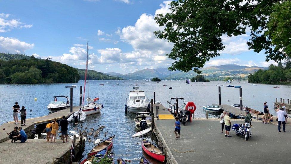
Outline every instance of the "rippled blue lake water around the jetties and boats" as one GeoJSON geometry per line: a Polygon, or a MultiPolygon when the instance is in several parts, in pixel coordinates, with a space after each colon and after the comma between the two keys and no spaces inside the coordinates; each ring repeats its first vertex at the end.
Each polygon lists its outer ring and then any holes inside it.
{"type": "MultiPolygon", "coordinates": [[[[203,111],[202,106],[218,103],[218,84],[224,85],[221,87],[222,104],[239,103],[239,88],[226,87],[226,85],[242,86],[243,105],[258,111],[263,111],[263,103],[267,101],[270,112],[275,114],[273,110],[275,98],[278,98],[278,100],[283,98],[285,103],[287,103],[288,98],[291,99],[290,85],[276,85],[280,88],[273,88],[274,85],[258,84],[257,86],[252,86],[252,84],[243,81],[240,83],[232,82],[231,84],[219,81],[204,82],[206,85],[202,84],[202,82],[192,82],[189,85],[185,85],[184,81],[162,81],[159,83],[145,81],[123,82],[125,81],[89,81],[90,97],[99,97],[104,109],[100,114],[88,116],[83,126],[96,129],[100,124],[106,125],[103,133],[100,134],[100,138],[105,139],[107,137],[103,136],[105,131],[108,131],[108,135],[115,135],[113,148],[115,158],[122,157],[123,159],[131,160],[132,163],[136,163],[140,157],[145,155],[141,148],[142,138],[131,137],[137,132],[133,121],[135,114],[124,112],[126,98],[128,98],[129,91],[131,91],[132,85],[135,83],[139,84],[140,90],[144,90],[149,99],[153,99],[153,92],[155,91],[156,101],[161,101],[166,107],[168,107],[166,101],[169,101],[172,97],[183,97],[185,101],[193,101],[196,105],[195,117],[204,118],[206,112],[203,111]],[[110,84],[106,82],[110,82],[110,84]],[[117,82],[119,85],[116,85],[117,82]],[[104,86],[99,85],[100,83],[103,83],[104,86]],[[168,86],[163,87],[164,84],[168,86]],[[170,85],[173,87],[172,90],[168,89],[170,85]]],[[[84,81],[80,81],[77,83],[77,88],[74,88],[74,106],[79,105],[79,86],[83,86],[83,83],[84,81]]],[[[16,101],[20,106],[25,106],[27,109],[27,118],[48,114],[47,105],[53,101],[52,96],[69,96],[69,88],[65,88],[67,85],[71,84],[0,85],[0,110],[2,114],[0,124],[13,120],[11,108],[16,101]],[[34,101],[35,97],[37,101],[34,101]],[[32,112],[30,112],[30,109],[33,109],[32,112]]],[[[210,117],[217,117],[217,115],[210,114],[210,117]]],[[[71,124],[70,128],[73,129],[74,126],[71,124]]],[[[90,138],[93,140],[93,136],[90,138]]],[[[146,135],[145,138],[152,141],[150,134],[146,135]]],[[[78,160],[85,158],[93,146],[92,143],[86,142],[85,151],[78,160]]],[[[146,157],[149,158],[148,156],[146,157]]],[[[157,163],[152,160],[151,162],[157,163]]]]}

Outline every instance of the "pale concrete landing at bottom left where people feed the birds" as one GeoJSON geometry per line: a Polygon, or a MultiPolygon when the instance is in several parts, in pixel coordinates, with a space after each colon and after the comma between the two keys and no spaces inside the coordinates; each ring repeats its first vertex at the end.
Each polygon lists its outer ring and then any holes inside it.
{"type": "Polygon", "coordinates": [[[28,139],[24,143],[20,141],[11,143],[11,140],[2,142],[0,144],[1,164],[53,163],[66,154],[72,145],[72,140],[66,143],[60,139],[54,143],[46,141],[46,139],[28,139]]]}

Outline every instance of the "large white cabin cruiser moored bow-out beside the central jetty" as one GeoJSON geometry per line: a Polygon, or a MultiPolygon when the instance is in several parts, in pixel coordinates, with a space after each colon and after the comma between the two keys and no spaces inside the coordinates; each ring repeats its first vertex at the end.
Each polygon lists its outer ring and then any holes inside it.
{"type": "Polygon", "coordinates": [[[144,91],[129,91],[129,99],[126,99],[126,106],[131,113],[144,112],[148,108],[148,98],[144,91]]]}

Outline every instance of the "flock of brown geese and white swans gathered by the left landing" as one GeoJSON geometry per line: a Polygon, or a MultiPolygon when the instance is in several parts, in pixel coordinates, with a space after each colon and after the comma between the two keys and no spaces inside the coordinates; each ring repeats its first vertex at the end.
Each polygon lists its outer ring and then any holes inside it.
{"type": "MultiPolygon", "coordinates": [[[[78,124],[75,124],[75,125],[78,125],[78,124]]],[[[85,141],[88,141],[89,143],[94,143],[94,144],[98,144],[100,143],[101,141],[104,140],[104,138],[98,138],[95,140],[96,137],[100,136],[100,134],[103,132],[103,128],[106,128],[106,126],[104,125],[98,125],[98,129],[94,129],[94,128],[90,128],[89,131],[88,131],[88,127],[84,126],[84,130],[82,131],[82,124],[81,124],[81,130],[78,131],[79,129],[79,126],[78,127],[75,127],[74,130],[70,130],[69,132],[72,133],[72,136],[69,136],[70,139],[73,139],[74,138],[74,135],[76,136],[76,138],[80,139],[80,136],[82,134],[82,138],[85,140],[85,141]],[[77,131],[77,132],[76,132],[77,131]],[[92,136],[93,137],[93,140],[89,137],[89,136],[92,136]]],[[[61,133],[61,131],[59,131],[59,133],[61,133]]],[[[106,137],[108,134],[108,131],[104,132],[103,133],[103,136],[106,137]]],[[[46,136],[47,134],[46,133],[41,133],[42,136],[46,136]]],[[[61,137],[61,135],[59,136],[61,137]]],[[[45,137],[44,137],[45,138],[45,137]]],[[[38,134],[35,134],[34,135],[34,139],[38,139],[38,134]]]]}

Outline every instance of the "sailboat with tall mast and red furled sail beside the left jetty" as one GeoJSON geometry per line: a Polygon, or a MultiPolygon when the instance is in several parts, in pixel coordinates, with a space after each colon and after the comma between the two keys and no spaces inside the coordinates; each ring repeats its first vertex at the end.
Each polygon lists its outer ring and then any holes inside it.
{"type": "Polygon", "coordinates": [[[86,115],[96,114],[101,111],[103,105],[100,103],[96,103],[99,98],[91,99],[89,98],[89,76],[88,76],[88,42],[87,42],[87,61],[86,61],[86,70],[85,70],[85,82],[84,82],[84,92],[83,92],[83,102],[81,106],[81,110],[86,113],[86,115]],[[84,105],[84,98],[85,98],[85,91],[86,91],[86,80],[87,81],[87,89],[88,89],[88,97],[87,97],[87,104],[84,105]]]}

